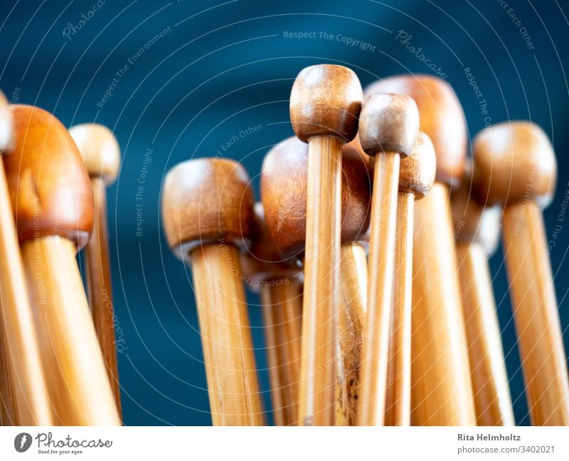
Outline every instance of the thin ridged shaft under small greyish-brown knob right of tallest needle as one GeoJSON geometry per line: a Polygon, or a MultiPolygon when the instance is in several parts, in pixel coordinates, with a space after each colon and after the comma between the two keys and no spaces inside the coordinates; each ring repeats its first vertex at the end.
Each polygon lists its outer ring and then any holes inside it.
{"type": "Polygon", "coordinates": [[[358,425],[382,425],[393,292],[400,156],[376,156],[371,198],[368,309],[360,369],[358,425]]]}

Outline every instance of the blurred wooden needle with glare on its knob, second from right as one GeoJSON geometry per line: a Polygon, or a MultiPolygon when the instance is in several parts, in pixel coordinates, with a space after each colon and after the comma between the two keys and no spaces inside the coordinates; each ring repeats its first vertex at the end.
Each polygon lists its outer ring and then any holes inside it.
{"type": "Polygon", "coordinates": [[[496,315],[488,258],[500,234],[499,207],[483,207],[471,196],[472,168],[451,192],[461,300],[472,369],[478,425],[515,425],[506,359],[496,315]]]}

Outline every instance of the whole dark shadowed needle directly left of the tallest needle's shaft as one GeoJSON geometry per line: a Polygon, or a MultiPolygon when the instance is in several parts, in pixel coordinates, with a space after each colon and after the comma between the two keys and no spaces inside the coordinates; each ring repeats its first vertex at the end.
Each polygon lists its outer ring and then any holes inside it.
{"type": "Polygon", "coordinates": [[[270,238],[262,203],[241,266],[246,286],[260,294],[275,425],[296,425],[302,327],[302,273],[282,261],[270,238]]]}

